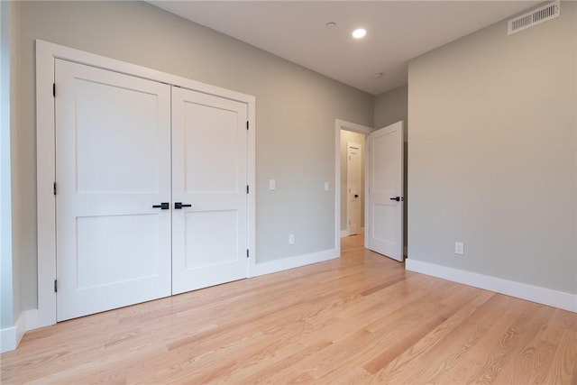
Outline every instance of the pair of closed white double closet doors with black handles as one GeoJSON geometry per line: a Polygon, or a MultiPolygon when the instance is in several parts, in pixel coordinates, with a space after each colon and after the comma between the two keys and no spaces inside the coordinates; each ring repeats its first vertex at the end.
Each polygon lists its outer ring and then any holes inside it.
{"type": "Polygon", "coordinates": [[[57,319],[247,276],[247,105],[56,60],[57,319]]]}

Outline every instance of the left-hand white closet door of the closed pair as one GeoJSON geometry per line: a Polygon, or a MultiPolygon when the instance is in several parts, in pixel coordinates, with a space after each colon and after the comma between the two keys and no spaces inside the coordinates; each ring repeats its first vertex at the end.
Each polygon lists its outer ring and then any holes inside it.
{"type": "Polygon", "coordinates": [[[170,295],[170,88],[56,60],[57,317],[170,295]]]}

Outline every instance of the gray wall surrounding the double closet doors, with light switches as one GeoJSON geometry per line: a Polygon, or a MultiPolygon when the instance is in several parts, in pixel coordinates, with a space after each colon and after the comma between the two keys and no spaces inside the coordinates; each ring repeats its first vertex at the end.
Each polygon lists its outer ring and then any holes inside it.
{"type": "MultiPolygon", "coordinates": [[[[334,247],[334,119],[372,124],[372,96],[141,2],[19,2],[22,89],[14,254],[36,307],[34,43],[51,41],[256,96],[258,261],[334,247]],[[277,189],[268,190],[268,179],[277,189]],[[329,181],[331,192],[324,191],[329,181]],[[297,243],[289,245],[288,235],[297,243]]],[[[13,131],[14,131],[13,130],[13,131]]],[[[14,133],[14,132],[13,132],[14,133]]]]}

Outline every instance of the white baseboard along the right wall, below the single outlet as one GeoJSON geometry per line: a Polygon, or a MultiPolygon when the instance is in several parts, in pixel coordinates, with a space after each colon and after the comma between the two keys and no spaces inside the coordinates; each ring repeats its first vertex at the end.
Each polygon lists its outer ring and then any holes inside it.
{"type": "Polygon", "coordinates": [[[487,289],[507,296],[527,299],[538,304],[558,307],[577,313],[577,294],[541,288],[514,280],[503,280],[489,275],[453,269],[434,263],[415,261],[410,258],[406,261],[405,266],[409,271],[415,271],[444,280],[451,280],[475,288],[487,289]]]}

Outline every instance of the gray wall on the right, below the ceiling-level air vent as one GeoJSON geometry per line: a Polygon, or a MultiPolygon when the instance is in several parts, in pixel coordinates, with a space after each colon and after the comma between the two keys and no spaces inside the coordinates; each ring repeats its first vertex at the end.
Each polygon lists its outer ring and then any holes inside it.
{"type": "Polygon", "coordinates": [[[577,293],[576,8],[409,63],[411,260],[577,293]]]}

